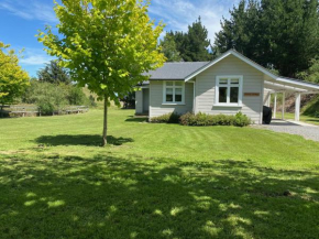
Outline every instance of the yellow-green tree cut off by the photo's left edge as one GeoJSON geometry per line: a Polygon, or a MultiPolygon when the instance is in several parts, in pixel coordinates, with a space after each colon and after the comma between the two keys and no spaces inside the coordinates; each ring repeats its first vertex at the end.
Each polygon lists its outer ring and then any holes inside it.
{"type": "Polygon", "coordinates": [[[10,45],[0,42],[0,104],[12,104],[26,86],[29,75],[19,65],[19,58],[10,45]],[[7,52],[6,52],[7,51],[7,52]]]}

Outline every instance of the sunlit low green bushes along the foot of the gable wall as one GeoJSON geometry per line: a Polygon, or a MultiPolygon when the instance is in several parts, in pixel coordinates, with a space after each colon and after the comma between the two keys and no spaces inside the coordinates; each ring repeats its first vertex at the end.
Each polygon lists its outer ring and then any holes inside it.
{"type": "Polygon", "coordinates": [[[183,126],[235,126],[245,127],[251,124],[251,120],[243,115],[238,112],[235,116],[226,115],[208,115],[199,112],[194,115],[191,112],[185,113],[179,118],[179,123],[183,126]]]}

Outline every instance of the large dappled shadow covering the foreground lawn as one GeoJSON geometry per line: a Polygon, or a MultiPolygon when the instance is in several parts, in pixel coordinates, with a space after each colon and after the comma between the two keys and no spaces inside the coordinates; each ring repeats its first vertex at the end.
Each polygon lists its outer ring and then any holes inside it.
{"type": "Polygon", "coordinates": [[[22,161],[0,169],[4,238],[318,236],[319,177],[310,172],[134,155],[22,161]]]}

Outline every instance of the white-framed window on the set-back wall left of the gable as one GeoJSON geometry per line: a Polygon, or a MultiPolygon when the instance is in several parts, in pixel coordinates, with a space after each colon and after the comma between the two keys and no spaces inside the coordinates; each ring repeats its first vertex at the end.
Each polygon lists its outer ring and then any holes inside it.
{"type": "Polygon", "coordinates": [[[164,82],[164,102],[163,104],[184,104],[185,83],[164,82]]]}

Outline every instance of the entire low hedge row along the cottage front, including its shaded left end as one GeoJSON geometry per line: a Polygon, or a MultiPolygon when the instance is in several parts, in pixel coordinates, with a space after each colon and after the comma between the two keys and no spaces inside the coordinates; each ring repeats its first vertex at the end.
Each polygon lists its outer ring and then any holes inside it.
{"type": "Polygon", "coordinates": [[[234,127],[246,127],[252,123],[251,119],[243,115],[242,112],[238,112],[235,116],[227,116],[227,115],[208,115],[199,112],[194,115],[191,112],[187,112],[183,116],[177,113],[166,113],[160,117],[153,117],[151,119],[152,123],[180,123],[182,126],[197,126],[197,127],[206,127],[206,126],[234,126],[234,127]]]}

